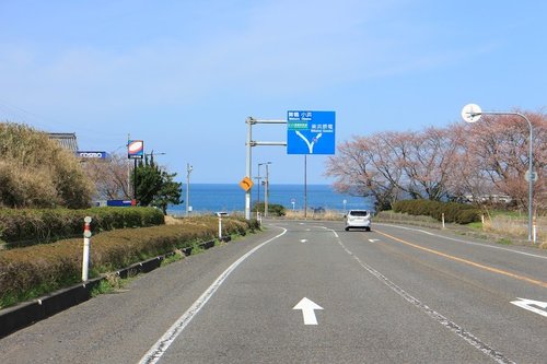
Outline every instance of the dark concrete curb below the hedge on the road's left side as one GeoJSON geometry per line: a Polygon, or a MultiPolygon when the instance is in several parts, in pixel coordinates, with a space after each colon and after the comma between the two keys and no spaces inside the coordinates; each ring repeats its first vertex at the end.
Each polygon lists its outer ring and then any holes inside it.
{"type": "MultiPolygon", "coordinates": [[[[231,237],[226,236],[221,240],[230,242],[231,237]]],[[[214,246],[214,240],[205,242],[199,244],[199,247],[202,249],[209,249],[214,246]]],[[[184,255],[189,256],[191,254],[191,247],[183,249],[183,253],[184,255]]],[[[131,265],[116,271],[116,274],[125,279],[129,275],[148,273],[156,268],[160,268],[162,261],[172,255],[174,255],[174,253],[131,265]]],[[[90,300],[93,289],[105,279],[106,274],[89,280],[85,283],[79,283],[70,287],[53,292],[46,296],[35,298],[31,302],[25,302],[0,310],[0,339],[90,300]]]]}

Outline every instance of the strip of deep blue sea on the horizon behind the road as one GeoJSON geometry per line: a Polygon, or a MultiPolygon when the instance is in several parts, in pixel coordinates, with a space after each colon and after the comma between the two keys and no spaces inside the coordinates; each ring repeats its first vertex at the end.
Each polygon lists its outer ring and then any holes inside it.
{"type": "MultiPolygon", "coordinates": [[[[307,208],[330,211],[347,211],[349,209],[372,209],[368,198],[339,193],[330,185],[307,185],[307,208]]],[[[186,199],[186,186],[183,189],[183,199],[186,199]]],[[[252,203],[264,202],[264,187],[253,187],[252,203]]],[[[209,212],[244,212],[245,191],[235,184],[190,184],[189,207],[195,214],[209,212]]],[[[304,209],[304,185],[270,185],[268,203],[282,204],[287,210],[304,209]]],[[[170,206],[167,213],[183,215],[186,213],[186,202],[170,206]]]]}

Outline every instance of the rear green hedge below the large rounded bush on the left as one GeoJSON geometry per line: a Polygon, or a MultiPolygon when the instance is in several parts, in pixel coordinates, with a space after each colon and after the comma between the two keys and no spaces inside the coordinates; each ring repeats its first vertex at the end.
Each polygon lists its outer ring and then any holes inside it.
{"type": "Polygon", "coordinates": [[[0,209],[0,242],[16,247],[74,237],[83,233],[85,216],[96,232],[164,224],[154,208],[0,209]]]}

